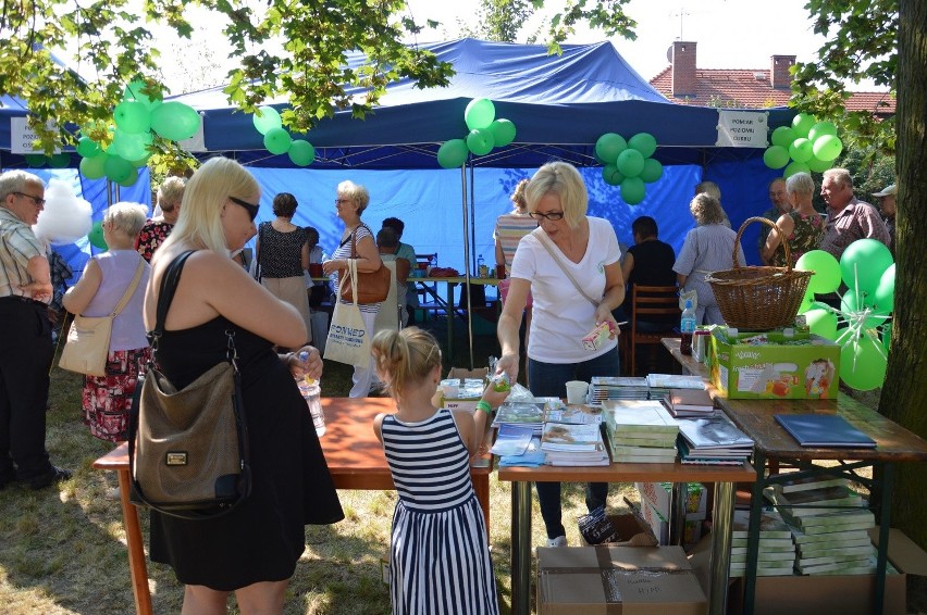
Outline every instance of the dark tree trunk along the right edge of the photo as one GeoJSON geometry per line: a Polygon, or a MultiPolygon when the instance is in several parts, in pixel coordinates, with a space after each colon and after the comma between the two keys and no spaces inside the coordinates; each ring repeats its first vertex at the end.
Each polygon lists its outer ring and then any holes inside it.
{"type": "MultiPolygon", "coordinates": [[[[900,0],[894,323],[879,412],[927,438],[927,2],[900,0]]],[[[927,549],[927,464],[897,466],[892,525],[927,549]]]]}

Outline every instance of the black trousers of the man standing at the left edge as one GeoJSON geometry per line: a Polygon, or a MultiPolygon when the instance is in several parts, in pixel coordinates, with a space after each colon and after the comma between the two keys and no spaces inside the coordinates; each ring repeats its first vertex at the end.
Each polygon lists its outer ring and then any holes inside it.
{"type": "Polygon", "coordinates": [[[29,479],[51,469],[45,424],[53,355],[45,304],[0,298],[0,476],[29,479]]]}

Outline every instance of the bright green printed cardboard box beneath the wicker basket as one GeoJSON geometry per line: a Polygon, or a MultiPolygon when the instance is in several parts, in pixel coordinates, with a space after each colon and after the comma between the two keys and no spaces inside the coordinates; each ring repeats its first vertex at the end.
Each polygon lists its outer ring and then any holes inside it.
{"type": "Polygon", "coordinates": [[[712,384],[730,399],[837,399],[840,347],[816,335],[739,332],[710,336],[712,384]],[[765,336],[764,344],[747,340],[765,336]]]}

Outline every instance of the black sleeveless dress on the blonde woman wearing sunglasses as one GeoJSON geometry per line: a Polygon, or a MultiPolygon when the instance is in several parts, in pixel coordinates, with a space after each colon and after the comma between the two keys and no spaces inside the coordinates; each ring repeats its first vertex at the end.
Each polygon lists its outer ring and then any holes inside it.
{"type": "Polygon", "coordinates": [[[157,354],[164,375],[187,386],[225,357],[235,331],[247,414],[254,487],[232,513],[183,520],[151,511],[152,562],[168,564],[184,585],[232,591],[293,576],[307,524],[344,518],[306,402],[272,344],[218,317],[164,331],[157,354]]]}

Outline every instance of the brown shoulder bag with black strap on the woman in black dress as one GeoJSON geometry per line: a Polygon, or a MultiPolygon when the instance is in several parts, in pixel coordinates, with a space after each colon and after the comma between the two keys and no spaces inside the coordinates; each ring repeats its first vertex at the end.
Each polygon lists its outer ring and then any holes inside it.
{"type": "MultiPolygon", "coordinates": [[[[152,354],[168,309],[193,251],[168,266],[158,293],[152,354]]],[[[209,519],[227,514],[251,492],[248,431],[242,403],[235,332],[226,330],[227,361],[177,390],[149,361],[139,376],[128,423],[131,500],[165,515],[209,519]]]]}

